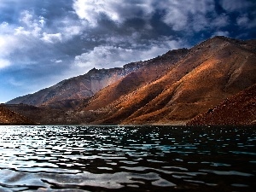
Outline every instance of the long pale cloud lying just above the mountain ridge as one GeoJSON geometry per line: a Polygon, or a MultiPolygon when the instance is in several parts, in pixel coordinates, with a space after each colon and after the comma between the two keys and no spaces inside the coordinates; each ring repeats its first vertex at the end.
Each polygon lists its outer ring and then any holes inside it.
{"type": "Polygon", "coordinates": [[[74,64],[87,69],[92,67],[121,67],[131,61],[152,59],[157,55],[166,53],[170,49],[180,48],[181,44],[181,41],[160,38],[159,40],[152,41],[150,45],[144,46],[144,49],[138,49],[137,46],[125,49],[117,46],[102,45],[82,55],[77,55],[74,64]]]}

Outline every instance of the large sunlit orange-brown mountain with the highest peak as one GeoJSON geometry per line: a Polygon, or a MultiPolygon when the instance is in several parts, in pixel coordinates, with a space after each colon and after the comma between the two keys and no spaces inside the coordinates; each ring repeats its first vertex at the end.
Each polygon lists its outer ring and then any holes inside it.
{"type": "MultiPolygon", "coordinates": [[[[159,79],[101,107],[87,108],[100,124],[170,124],[187,121],[256,83],[255,41],[211,38],[194,48],[159,79]]],[[[154,73],[154,71],[151,71],[154,73]]],[[[115,84],[114,86],[118,86],[115,84]]],[[[130,84],[126,84],[130,87],[130,84]]],[[[132,86],[132,85],[131,85],[132,86]]],[[[115,88],[112,88],[113,91],[115,88]]],[[[132,89],[131,89],[132,90],[132,89]]],[[[113,95],[104,91],[105,100],[113,95]]],[[[98,95],[99,97],[99,95],[98,95]]]]}

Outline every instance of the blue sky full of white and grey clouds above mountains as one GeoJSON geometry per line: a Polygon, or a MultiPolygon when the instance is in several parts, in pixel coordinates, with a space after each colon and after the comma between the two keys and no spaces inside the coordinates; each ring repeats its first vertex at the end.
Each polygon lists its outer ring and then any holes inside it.
{"type": "Polygon", "coordinates": [[[216,35],[256,38],[256,1],[0,0],[0,102],[216,35]]]}

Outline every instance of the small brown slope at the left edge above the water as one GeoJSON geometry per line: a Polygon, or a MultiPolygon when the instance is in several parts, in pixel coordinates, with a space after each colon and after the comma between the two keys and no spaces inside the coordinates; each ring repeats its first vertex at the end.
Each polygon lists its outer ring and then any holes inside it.
{"type": "Polygon", "coordinates": [[[0,125],[35,125],[35,123],[0,105],[0,125]]]}

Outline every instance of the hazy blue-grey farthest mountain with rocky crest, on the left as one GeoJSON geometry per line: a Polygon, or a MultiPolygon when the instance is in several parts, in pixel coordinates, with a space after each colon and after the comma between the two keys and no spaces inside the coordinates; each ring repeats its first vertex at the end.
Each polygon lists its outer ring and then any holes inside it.
{"type": "Polygon", "coordinates": [[[143,66],[142,61],[126,64],[124,67],[111,69],[91,69],[88,73],[66,79],[34,94],[17,97],[6,104],[27,104],[33,106],[48,105],[63,100],[78,100],[93,96],[97,91],[113,84],[143,66]]]}

